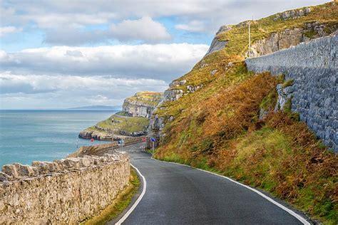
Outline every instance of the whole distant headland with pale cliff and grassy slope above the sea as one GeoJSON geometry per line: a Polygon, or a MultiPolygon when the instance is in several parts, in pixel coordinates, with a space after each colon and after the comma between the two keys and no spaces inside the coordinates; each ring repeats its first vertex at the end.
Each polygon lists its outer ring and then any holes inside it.
{"type": "Polygon", "coordinates": [[[162,98],[162,93],[144,91],[126,98],[123,111],[82,130],[78,137],[84,139],[111,140],[146,135],[151,113],[162,98]]]}

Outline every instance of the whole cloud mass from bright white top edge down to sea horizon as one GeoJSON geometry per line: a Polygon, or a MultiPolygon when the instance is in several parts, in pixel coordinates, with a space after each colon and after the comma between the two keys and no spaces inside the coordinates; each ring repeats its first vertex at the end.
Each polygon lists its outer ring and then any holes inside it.
{"type": "Polygon", "coordinates": [[[121,105],[141,90],[164,91],[207,50],[180,43],[0,51],[0,107],[121,105]]]}

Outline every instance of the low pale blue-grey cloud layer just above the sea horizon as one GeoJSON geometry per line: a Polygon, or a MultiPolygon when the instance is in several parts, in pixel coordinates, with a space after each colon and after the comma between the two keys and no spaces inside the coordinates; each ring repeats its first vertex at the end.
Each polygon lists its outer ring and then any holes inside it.
{"type": "Polygon", "coordinates": [[[70,108],[121,105],[141,90],[163,91],[164,80],[111,76],[22,75],[0,73],[1,108],[70,108]],[[33,105],[31,105],[33,104],[33,105]]]}

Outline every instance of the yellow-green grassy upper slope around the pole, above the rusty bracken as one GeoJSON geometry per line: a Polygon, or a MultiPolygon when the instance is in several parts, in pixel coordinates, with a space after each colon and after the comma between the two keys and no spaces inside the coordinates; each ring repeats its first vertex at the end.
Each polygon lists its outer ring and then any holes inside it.
{"type": "MultiPolygon", "coordinates": [[[[274,20],[277,16],[280,16],[280,14],[275,14],[251,22],[250,33],[252,43],[267,38],[271,33],[285,31],[287,28],[305,28],[305,23],[313,23],[315,21],[327,25],[325,28],[327,33],[333,33],[337,30],[337,4],[332,5],[332,3],[327,3],[309,8],[311,12],[307,16],[301,16],[297,19],[274,20]]],[[[220,33],[217,39],[228,41],[226,48],[206,56],[195,65],[193,70],[176,80],[187,80],[185,85],[193,86],[210,83],[212,80],[217,79],[219,75],[227,73],[229,62],[243,61],[243,57],[249,46],[247,42],[247,22],[244,21],[237,25],[232,25],[230,26],[230,31],[220,33]],[[210,72],[214,69],[217,69],[217,73],[211,75],[210,72]]],[[[185,86],[182,89],[184,90],[185,86]]]]}

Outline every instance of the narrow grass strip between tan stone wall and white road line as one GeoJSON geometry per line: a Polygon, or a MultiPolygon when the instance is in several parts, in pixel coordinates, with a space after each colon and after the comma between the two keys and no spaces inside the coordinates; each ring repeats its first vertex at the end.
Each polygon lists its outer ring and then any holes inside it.
{"type": "Polygon", "coordinates": [[[106,224],[108,221],[116,218],[119,214],[121,214],[124,209],[128,207],[133,199],[133,196],[136,192],[138,192],[138,188],[140,187],[140,179],[135,169],[130,167],[130,174],[130,184],[124,192],[121,192],[121,194],[118,195],[113,204],[106,207],[106,209],[104,209],[101,214],[98,214],[91,219],[83,221],[81,224],[106,224]]]}

